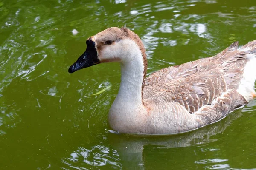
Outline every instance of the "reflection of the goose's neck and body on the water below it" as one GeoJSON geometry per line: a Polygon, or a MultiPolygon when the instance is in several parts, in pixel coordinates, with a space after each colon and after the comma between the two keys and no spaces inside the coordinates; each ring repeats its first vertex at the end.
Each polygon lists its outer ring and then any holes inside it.
{"type": "MultiPolygon", "coordinates": [[[[241,110],[236,110],[223,121],[189,133],[171,136],[138,137],[108,133],[108,141],[111,143],[113,149],[117,150],[119,153],[123,169],[154,169],[152,167],[146,168],[148,164],[146,164],[143,156],[145,148],[157,147],[162,150],[163,153],[168,154],[166,149],[202,146],[210,142],[215,142],[218,139],[214,136],[218,133],[223,133],[231,122],[241,115],[241,110]]],[[[215,144],[212,145],[214,146],[215,144]]],[[[161,162],[164,163],[165,161],[161,160],[161,162]]]]}

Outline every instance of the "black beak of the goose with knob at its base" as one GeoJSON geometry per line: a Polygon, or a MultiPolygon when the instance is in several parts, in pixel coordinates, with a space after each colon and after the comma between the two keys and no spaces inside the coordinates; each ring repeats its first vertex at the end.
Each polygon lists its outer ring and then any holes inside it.
{"type": "Polygon", "coordinates": [[[95,48],[95,42],[91,40],[91,38],[89,38],[86,41],[86,44],[87,44],[87,48],[84,54],[82,54],[77,59],[77,61],[70,66],[70,68],[68,69],[69,73],[74,73],[75,71],[80,70],[82,68],[87,68],[92,65],[99,64],[99,59],[97,57],[98,54],[95,48]]]}

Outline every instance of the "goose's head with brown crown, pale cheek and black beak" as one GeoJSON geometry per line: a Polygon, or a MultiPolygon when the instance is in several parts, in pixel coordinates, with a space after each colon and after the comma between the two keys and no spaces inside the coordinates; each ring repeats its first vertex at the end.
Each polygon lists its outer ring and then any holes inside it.
{"type": "Polygon", "coordinates": [[[88,38],[86,40],[86,51],[70,66],[69,72],[73,73],[82,68],[87,68],[104,62],[132,62],[134,57],[138,57],[135,48],[140,51],[143,58],[144,75],[147,70],[147,60],[143,42],[139,36],[122,27],[111,27],[88,38]]]}

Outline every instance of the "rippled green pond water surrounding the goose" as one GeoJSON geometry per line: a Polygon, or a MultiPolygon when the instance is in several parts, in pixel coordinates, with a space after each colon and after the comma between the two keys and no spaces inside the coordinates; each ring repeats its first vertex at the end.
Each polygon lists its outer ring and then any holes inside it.
{"type": "Polygon", "coordinates": [[[149,74],[256,39],[256,1],[1,0],[0,169],[256,168],[255,100],[182,135],[111,131],[119,65],[67,70],[88,37],[124,25],[143,40],[149,74]]]}

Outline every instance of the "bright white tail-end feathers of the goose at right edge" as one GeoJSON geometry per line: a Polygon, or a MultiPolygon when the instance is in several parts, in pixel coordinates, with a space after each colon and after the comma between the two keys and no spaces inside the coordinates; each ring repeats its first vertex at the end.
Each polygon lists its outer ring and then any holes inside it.
{"type": "MultiPolygon", "coordinates": [[[[239,48],[240,50],[240,48],[239,48]]],[[[249,48],[240,51],[248,51],[249,48]]],[[[238,93],[244,96],[247,102],[250,102],[256,95],[254,90],[256,80],[256,54],[247,54],[247,63],[244,67],[244,74],[238,87],[238,93]]]]}

